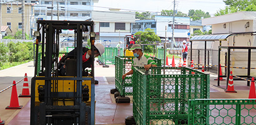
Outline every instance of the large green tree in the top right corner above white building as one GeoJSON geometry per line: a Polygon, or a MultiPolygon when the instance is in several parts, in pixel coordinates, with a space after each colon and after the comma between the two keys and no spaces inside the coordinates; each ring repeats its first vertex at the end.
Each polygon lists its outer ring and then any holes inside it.
{"type": "Polygon", "coordinates": [[[256,0],[224,0],[225,9],[220,9],[214,16],[231,14],[239,11],[255,11],[256,0]]]}

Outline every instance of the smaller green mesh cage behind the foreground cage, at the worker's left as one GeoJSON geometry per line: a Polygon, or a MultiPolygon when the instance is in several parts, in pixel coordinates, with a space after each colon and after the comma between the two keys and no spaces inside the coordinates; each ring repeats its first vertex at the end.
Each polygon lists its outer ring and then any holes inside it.
{"type": "MultiPolygon", "coordinates": [[[[122,75],[129,72],[132,67],[132,59],[134,57],[116,56],[116,74],[115,82],[116,89],[120,92],[121,96],[132,96],[132,75],[127,75],[124,80],[124,86],[122,86],[122,75]]],[[[157,66],[161,66],[161,60],[159,58],[151,57],[157,66]]]]}

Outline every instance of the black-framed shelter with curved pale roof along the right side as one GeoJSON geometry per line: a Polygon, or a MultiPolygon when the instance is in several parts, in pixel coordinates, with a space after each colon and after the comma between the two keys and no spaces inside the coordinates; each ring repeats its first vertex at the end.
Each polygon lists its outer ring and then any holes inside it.
{"type": "MultiPolygon", "coordinates": [[[[218,73],[218,82],[217,82],[217,85],[220,86],[220,77],[227,77],[227,79],[229,78],[229,72],[230,72],[230,49],[248,49],[248,58],[250,58],[251,56],[251,49],[255,49],[254,47],[251,47],[252,46],[252,43],[250,43],[249,46],[244,46],[244,47],[237,47],[235,46],[235,42],[233,41],[233,44],[232,45],[229,45],[227,44],[227,47],[222,47],[222,42],[224,41],[227,41],[227,39],[229,37],[232,37],[232,36],[237,36],[237,35],[256,35],[255,34],[256,32],[237,32],[237,33],[232,33],[232,34],[213,34],[213,35],[197,35],[197,36],[194,36],[190,39],[190,62],[193,60],[193,51],[192,50],[197,50],[197,49],[194,49],[193,47],[193,43],[194,42],[202,42],[202,44],[204,44],[204,49],[201,49],[204,51],[204,62],[200,64],[200,62],[198,61],[198,65],[205,65],[207,66],[207,70],[209,71],[209,66],[215,66],[217,67],[217,73],[218,73]],[[207,43],[208,42],[217,42],[219,41],[219,47],[218,47],[218,50],[219,51],[218,53],[215,53],[215,54],[218,54],[218,55],[215,55],[213,56],[212,60],[217,60],[217,64],[215,65],[210,65],[210,58],[209,58],[209,52],[208,52],[208,55],[207,55],[207,43]],[[225,53],[225,70],[227,70],[227,72],[225,72],[225,74],[227,75],[220,75],[220,51],[222,49],[227,49],[227,53],[225,53]],[[218,58],[216,58],[218,57],[218,58]]],[[[202,46],[201,44],[201,46],[202,46]]],[[[198,56],[198,60],[200,60],[199,56],[198,56]]],[[[248,69],[250,68],[250,62],[251,60],[248,59],[248,69]]],[[[250,79],[250,70],[247,70],[247,75],[245,75],[245,77],[249,78],[250,79]]],[[[241,78],[236,78],[234,80],[242,80],[241,78]]],[[[228,83],[229,80],[227,80],[227,83],[228,83]]],[[[247,84],[248,85],[248,84],[247,84]]]]}

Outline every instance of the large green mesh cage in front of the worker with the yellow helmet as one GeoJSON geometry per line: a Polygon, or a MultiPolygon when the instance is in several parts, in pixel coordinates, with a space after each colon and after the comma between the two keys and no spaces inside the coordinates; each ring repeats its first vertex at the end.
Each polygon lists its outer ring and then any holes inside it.
{"type": "Polygon", "coordinates": [[[133,114],[139,125],[187,124],[189,100],[210,95],[210,75],[191,68],[152,67],[146,73],[135,67],[132,81],[133,114]]]}

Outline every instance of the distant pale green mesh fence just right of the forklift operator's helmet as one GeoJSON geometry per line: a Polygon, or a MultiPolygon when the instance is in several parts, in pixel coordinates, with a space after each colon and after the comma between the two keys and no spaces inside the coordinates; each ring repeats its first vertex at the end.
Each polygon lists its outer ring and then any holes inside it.
{"type": "Polygon", "coordinates": [[[115,56],[123,55],[123,49],[117,49],[116,47],[105,47],[105,52],[102,56],[99,56],[99,60],[105,64],[115,64],[115,56]]]}

